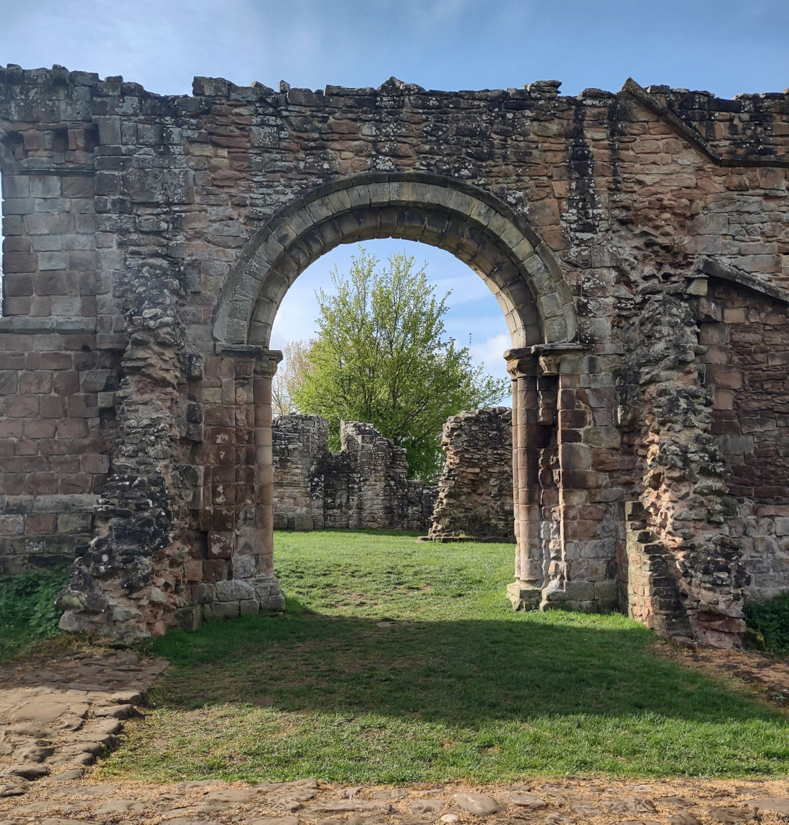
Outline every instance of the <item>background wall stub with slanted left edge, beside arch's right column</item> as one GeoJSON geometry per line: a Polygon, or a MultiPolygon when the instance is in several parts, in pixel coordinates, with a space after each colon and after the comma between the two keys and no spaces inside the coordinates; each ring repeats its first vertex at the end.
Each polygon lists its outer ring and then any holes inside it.
{"type": "Polygon", "coordinates": [[[484,407],[447,419],[446,453],[429,534],[513,540],[513,411],[484,407]]]}

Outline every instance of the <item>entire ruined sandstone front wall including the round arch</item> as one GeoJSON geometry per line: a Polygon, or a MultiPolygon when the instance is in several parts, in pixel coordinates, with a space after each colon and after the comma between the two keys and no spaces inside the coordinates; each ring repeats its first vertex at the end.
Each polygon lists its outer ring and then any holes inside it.
{"type": "Polygon", "coordinates": [[[3,566],[78,549],[63,626],[119,643],[280,610],[272,320],[408,238],[507,319],[513,605],[736,643],[789,589],[789,97],[559,85],[0,68],[3,566]]]}

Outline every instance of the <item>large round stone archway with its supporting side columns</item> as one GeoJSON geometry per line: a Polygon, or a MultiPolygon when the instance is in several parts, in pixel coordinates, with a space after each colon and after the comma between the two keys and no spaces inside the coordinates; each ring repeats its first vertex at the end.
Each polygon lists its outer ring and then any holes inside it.
{"type": "MultiPolygon", "coordinates": [[[[302,271],[340,243],[404,238],[446,249],[489,286],[508,323],[513,380],[513,493],[517,555],[513,606],[561,602],[587,610],[616,604],[616,582],[569,581],[565,506],[583,497],[573,476],[583,446],[573,430],[583,347],[572,295],[552,252],[500,200],[473,186],[419,173],[370,173],[320,186],[276,214],[243,250],[215,316],[219,347],[257,357],[254,526],[240,546],[273,552],[271,380],[267,349],[276,310],[302,271]],[[565,441],[567,443],[565,443],[565,441]],[[551,466],[564,477],[556,479],[551,466]]],[[[580,464],[583,467],[583,456],[580,464]]],[[[581,553],[583,555],[583,553],[581,553]]],[[[605,567],[605,565],[603,565],[605,567]]]]}

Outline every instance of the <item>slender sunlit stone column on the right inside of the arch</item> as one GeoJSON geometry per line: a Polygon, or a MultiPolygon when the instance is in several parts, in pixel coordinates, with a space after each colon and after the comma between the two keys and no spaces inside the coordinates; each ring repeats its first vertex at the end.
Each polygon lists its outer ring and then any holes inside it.
{"type": "Polygon", "coordinates": [[[516,610],[540,605],[543,551],[540,512],[540,450],[537,423],[537,360],[531,347],[504,353],[513,380],[513,509],[515,514],[515,581],[507,588],[516,610]]]}

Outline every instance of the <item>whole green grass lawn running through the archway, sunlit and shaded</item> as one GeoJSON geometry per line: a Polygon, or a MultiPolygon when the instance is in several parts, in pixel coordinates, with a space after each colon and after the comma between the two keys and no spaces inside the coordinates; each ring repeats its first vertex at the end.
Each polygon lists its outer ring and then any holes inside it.
{"type": "Polygon", "coordinates": [[[621,615],[514,613],[511,544],[276,534],[286,615],[172,632],[102,766],[140,780],[786,775],[787,716],[621,615]]]}

